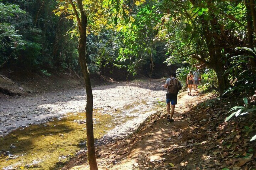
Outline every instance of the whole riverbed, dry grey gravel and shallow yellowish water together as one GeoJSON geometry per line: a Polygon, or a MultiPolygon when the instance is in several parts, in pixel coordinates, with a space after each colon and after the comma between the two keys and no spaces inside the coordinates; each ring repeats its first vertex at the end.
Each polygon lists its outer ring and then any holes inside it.
{"type": "MultiPolygon", "coordinates": [[[[94,87],[96,143],[133,132],[163,104],[164,82],[148,79],[94,87]]],[[[85,100],[81,88],[2,98],[0,168],[54,168],[84,148],[85,100]]]]}

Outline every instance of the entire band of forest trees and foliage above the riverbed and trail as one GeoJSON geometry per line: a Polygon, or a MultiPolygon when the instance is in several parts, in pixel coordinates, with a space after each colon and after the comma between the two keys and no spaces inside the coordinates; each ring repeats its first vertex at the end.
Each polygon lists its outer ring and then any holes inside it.
{"type": "MultiPolygon", "coordinates": [[[[91,74],[163,65],[196,68],[203,88],[250,93],[255,79],[255,5],[237,1],[83,1],[91,74]],[[239,86],[237,86],[239,85],[239,86]],[[231,88],[231,90],[230,90],[231,88]]],[[[2,68],[79,72],[77,21],[69,1],[1,1],[2,68]]],[[[228,92],[227,92],[228,91],[228,92]]],[[[226,94],[225,93],[225,94],[226,94]]]]}

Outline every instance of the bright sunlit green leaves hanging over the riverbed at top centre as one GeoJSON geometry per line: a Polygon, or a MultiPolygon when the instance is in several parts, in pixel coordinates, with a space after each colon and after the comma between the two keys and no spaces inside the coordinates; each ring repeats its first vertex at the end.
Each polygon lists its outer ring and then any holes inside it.
{"type": "Polygon", "coordinates": [[[117,61],[127,65],[127,71],[133,75],[136,74],[139,63],[149,58],[151,53],[155,54],[153,38],[157,34],[156,26],[162,17],[161,13],[155,13],[155,9],[155,5],[141,5],[129,23],[126,24],[125,20],[123,25],[117,28],[123,38],[123,47],[120,48],[117,61]]]}

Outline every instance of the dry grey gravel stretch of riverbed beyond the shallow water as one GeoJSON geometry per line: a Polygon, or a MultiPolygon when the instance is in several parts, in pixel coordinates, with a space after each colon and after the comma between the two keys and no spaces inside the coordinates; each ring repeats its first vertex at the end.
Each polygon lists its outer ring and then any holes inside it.
{"type": "MultiPolygon", "coordinates": [[[[94,110],[100,109],[107,114],[120,112],[126,116],[139,116],[139,110],[145,113],[152,110],[158,100],[164,100],[164,81],[148,79],[94,87],[94,110]]],[[[85,99],[84,88],[26,97],[2,97],[0,136],[21,126],[47,122],[53,117],[61,119],[61,116],[69,112],[83,112],[85,99]]]]}

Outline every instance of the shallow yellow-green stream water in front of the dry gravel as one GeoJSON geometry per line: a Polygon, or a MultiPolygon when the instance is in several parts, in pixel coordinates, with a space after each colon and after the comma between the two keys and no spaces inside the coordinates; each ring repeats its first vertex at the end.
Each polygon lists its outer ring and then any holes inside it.
{"type": "MultiPolygon", "coordinates": [[[[146,101],[126,105],[123,110],[94,110],[94,138],[101,139],[117,125],[136,127],[160,106],[146,101]],[[144,116],[143,116],[144,115],[144,116]],[[134,121],[133,121],[134,120],[134,121]],[[138,121],[139,120],[139,121],[138,121]],[[130,121],[130,122],[129,122],[130,121]]],[[[68,113],[49,122],[18,128],[0,138],[0,169],[59,169],[77,151],[86,147],[85,113],[68,113]]],[[[124,127],[120,134],[131,130],[124,127]]],[[[135,129],[132,129],[135,130],[135,129]]],[[[113,133],[113,132],[112,132],[113,133]]]]}

